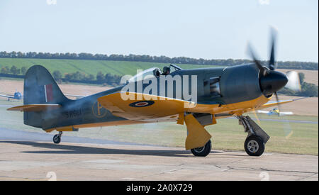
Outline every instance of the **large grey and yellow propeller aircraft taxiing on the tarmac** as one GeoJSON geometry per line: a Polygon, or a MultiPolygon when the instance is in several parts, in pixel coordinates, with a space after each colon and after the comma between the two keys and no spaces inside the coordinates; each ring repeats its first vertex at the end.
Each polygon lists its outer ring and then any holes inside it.
{"type": "Polygon", "coordinates": [[[59,133],[54,136],[54,143],[60,143],[64,131],[79,128],[174,121],[186,125],[185,148],[195,156],[206,156],[211,152],[211,135],[205,127],[216,124],[219,118],[235,116],[247,133],[245,151],[248,155],[260,156],[269,135],[244,114],[294,100],[279,101],[277,95],[289,77],[276,71],[274,33],[268,65],[257,60],[252,49],[250,55],[252,63],[233,67],[181,69],[170,65],[164,67],[163,72],[158,68],[147,69],[138,74],[142,79],[130,79],[120,87],[77,100],[67,99],[47,69],[36,65],[26,72],[23,106],[8,110],[23,111],[27,126],[42,128],[46,132],[57,130],[59,133]],[[148,84],[151,80],[157,82],[155,87],[160,89],[161,79],[169,76],[183,80],[182,84],[177,84],[177,80],[164,82],[164,87],[172,87],[171,95],[167,89],[164,93],[150,90],[148,84]],[[135,90],[123,90],[130,84],[135,90]],[[186,98],[189,86],[197,89],[196,101],[186,98]],[[123,95],[133,99],[123,99],[123,95]],[[276,101],[270,101],[272,96],[276,101]]]}

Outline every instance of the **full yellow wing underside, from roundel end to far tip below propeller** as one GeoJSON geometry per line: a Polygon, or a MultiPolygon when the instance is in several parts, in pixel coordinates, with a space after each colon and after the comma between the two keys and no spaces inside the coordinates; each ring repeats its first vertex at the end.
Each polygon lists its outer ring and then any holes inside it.
{"type": "MultiPolygon", "coordinates": [[[[114,94],[102,96],[98,101],[115,116],[120,116],[129,120],[147,120],[172,116],[184,112],[211,114],[226,113],[239,116],[242,115],[242,113],[253,110],[276,106],[276,102],[267,104],[270,99],[271,98],[266,98],[265,96],[260,96],[257,99],[235,104],[194,104],[194,102],[191,101],[164,98],[150,94],[116,92],[114,94]],[[130,99],[123,99],[123,94],[126,95],[125,98],[130,96],[130,99]],[[132,106],[132,104],[138,104],[138,102],[142,101],[152,101],[153,104],[140,107],[132,106]]],[[[291,101],[293,100],[281,101],[279,104],[286,104],[291,101]]]]}

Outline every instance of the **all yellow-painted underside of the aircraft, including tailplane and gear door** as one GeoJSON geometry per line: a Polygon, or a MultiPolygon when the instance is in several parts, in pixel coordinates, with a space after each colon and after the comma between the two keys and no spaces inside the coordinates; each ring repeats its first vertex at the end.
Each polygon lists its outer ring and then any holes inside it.
{"type": "MultiPolygon", "coordinates": [[[[250,101],[243,101],[235,104],[194,104],[190,101],[183,101],[179,99],[170,99],[160,96],[153,96],[150,94],[138,94],[126,92],[126,95],[130,96],[133,100],[123,100],[121,92],[101,96],[99,103],[111,111],[114,116],[126,118],[124,121],[112,121],[105,123],[88,123],[74,126],[65,126],[60,128],[52,128],[46,130],[51,132],[57,131],[73,131],[77,128],[92,128],[100,126],[120,126],[130,125],[137,123],[149,123],[151,119],[171,117],[177,121],[177,124],[186,124],[188,135],[186,138],[185,148],[189,150],[191,148],[201,147],[210,140],[211,135],[202,126],[196,118],[191,114],[186,113],[211,113],[213,118],[209,125],[216,124],[216,118],[225,118],[229,116],[241,116],[243,113],[250,111],[269,108],[278,104],[286,104],[293,100],[267,103],[272,97],[259,96],[257,99],[250,101]],[[152,106],[145,107],[133,107],[130,104],[136,101],[154,101],[152,106]],[[216,114],[225,113],[229,116],[215,117],[216,114]]],[[[57,105],[26,105],[12,109],[19,111],[39,111],[39,109],[58,108],[57,105]]]]}

